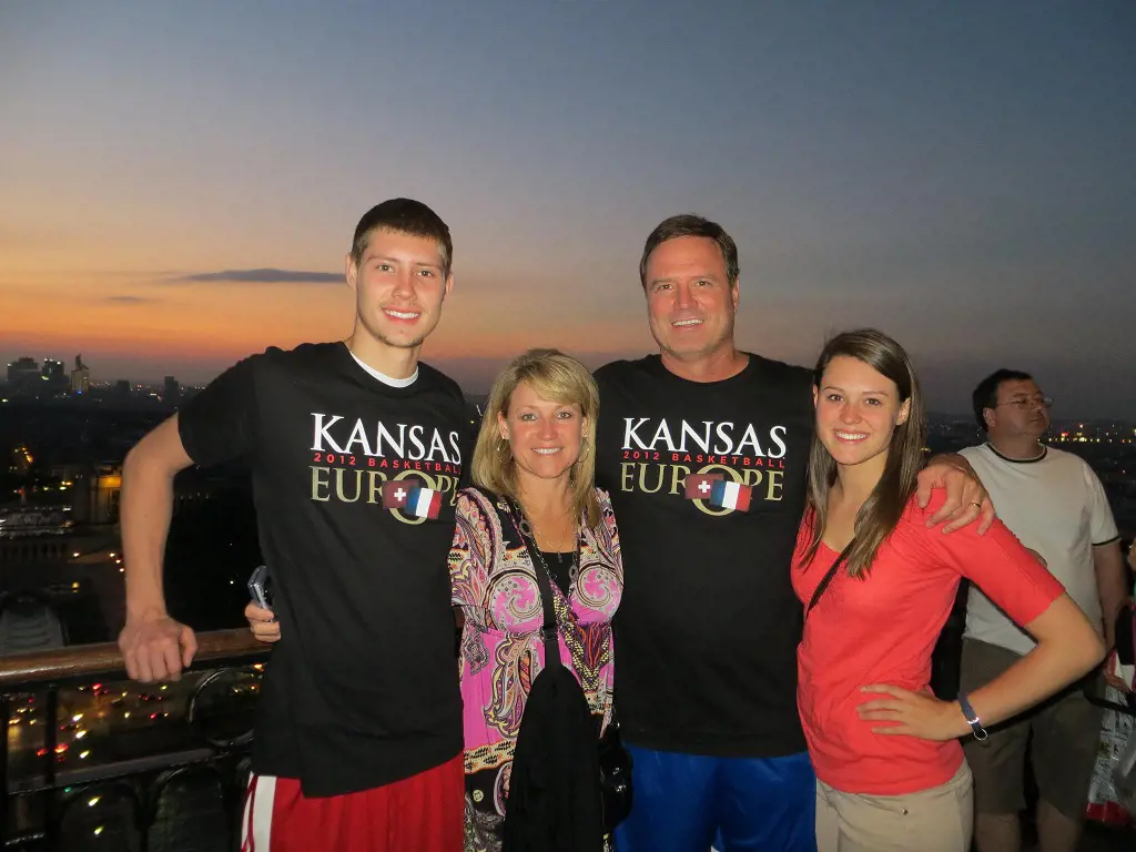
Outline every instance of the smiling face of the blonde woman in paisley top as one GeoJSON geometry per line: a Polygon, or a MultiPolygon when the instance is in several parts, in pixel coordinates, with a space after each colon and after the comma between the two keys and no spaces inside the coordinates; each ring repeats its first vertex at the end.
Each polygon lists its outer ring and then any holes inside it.
{"type": "Polygon", "coordinates": [[[509,442],[518,478],[567,477],[579,458],[587,427],[580,407],[543,399],[528,382],[521,382],[506,409],[507,414],[498,415],[498,428],[509,442]]]}

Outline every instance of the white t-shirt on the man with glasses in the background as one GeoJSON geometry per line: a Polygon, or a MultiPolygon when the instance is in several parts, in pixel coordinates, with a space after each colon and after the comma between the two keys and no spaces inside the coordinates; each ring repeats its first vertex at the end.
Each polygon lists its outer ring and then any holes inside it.
{"type": "MultiPolygon", "coordinates": [[[[1101,594],[1093,546],[1118,537],[1101,481],[1080,458],[1043,446],[1042,454],[1014,461],[989,444],[961,451],[994,500],[999,517],[1027,548],[1044,557],[1050,573],[1103,635],[1101,594]]],[[[1020,654],[1037,644],[1002,610],[971,586],[967,629],[971,638],[1020,654]]]]}

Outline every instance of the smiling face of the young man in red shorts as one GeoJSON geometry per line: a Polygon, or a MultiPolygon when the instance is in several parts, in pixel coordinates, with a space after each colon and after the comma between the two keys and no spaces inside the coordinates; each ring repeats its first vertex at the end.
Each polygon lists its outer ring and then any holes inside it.
{"type": "Polygon", "coordinates": [[[399,231],[370,233],[359,262],[346,259],[357,329],[393,349],[415,349],[434,331],[452,276],[437,242],[399,231]]]}

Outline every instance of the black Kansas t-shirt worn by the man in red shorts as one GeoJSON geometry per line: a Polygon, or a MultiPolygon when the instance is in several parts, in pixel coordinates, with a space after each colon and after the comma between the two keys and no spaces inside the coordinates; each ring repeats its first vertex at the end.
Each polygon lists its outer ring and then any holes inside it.
{"type": "Polygon", "coordinates": [[[446,556],[465,419],[437,370],[419,365],[392,387],[342,343],[248,358],[178,414],[197,463],[252,470],[282,628],[258,703],[258,774],[339,795],[461,751],[446,556]],[[392,481],[400,504],[384,508],[392,481]]]}

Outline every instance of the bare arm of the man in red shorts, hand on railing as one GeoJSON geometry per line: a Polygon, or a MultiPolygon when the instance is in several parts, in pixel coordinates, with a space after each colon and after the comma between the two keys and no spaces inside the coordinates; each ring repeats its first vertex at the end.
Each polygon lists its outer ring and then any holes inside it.
{"type": "Polygon", "coordinates": [[[143,437],[123,463],[120,496],[126,626],[118,648],[135,680],[176,680],[198,650],[193,630],[166,612],[161,569],[174,512],[174,477],[193,463],[177,415],[143,437]]]}

